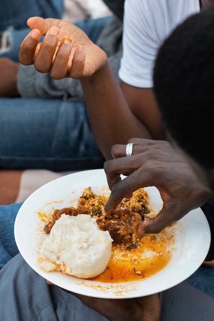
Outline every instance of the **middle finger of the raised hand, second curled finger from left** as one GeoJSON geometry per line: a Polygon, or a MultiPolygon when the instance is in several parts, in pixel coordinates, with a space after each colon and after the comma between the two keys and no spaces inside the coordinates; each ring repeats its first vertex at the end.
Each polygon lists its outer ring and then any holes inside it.
{"type": "Polygon", "coordinates": [[[59,29],[50,28],[47,32],[37,56],[35,57],[34,66],[39,72],[49,72],[52,66],[53,56],[58,44],[59,29]]]}

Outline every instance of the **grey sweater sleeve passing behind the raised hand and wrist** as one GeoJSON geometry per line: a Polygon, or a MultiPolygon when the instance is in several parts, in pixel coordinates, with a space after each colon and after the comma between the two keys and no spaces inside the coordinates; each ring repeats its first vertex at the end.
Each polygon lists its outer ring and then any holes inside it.
{"type": "MultiPolygon", "coordinates": [[[[108,55],[112,71],[118,82],[118,70],[122,55],[122,22],[117,17],[103,29],[97,45],[108,55]]],[[[52,79],[49,73],[40,73],[34,66],[20,65],[17,75],[17,88],[22,97],[61,98],[66,101],[84,99],[79,80],[52,79]]]]}

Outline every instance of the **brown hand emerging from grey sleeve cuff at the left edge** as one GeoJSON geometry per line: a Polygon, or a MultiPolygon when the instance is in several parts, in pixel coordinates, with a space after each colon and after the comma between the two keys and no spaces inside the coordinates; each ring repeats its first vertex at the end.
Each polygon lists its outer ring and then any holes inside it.
{"type": "Polygon", "coordinates": [[[0,58],[0,97],[19,96],[16,78],[19,63],[14,63],[9,58],[0,58]]]}

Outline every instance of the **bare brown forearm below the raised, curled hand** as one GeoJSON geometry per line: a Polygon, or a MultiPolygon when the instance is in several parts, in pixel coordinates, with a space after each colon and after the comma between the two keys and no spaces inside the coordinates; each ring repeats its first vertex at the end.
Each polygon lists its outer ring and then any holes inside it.
{"type": "Polygon", "coordinates": [[[92,131],[106,159],[112,158],[114,144],[126,144],[131,137],[152,138],[131,112],[108,63],[81,84],[92,131]]]}

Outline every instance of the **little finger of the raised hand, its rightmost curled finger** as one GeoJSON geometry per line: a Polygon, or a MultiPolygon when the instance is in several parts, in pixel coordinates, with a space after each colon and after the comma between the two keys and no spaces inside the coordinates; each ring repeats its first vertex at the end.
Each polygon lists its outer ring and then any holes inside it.
{"type": "Polygon", "coordinates": [[[85,66],[85,49],[82,46],[77,46],[72,59],[72,67],[69,75],[71,78],[79,79],[84,75],[85,66]]]}

